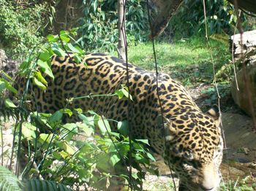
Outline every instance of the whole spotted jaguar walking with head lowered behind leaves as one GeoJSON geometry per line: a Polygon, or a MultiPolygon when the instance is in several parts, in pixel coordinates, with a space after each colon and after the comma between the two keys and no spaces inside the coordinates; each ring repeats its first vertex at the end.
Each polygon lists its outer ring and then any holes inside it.
{"type": "MultiPolygon", "coordinates": [[[[31,85],[31,109],[53,113],[67,106],[92,109],[109,119],[128,120],[132,138],[148,139],[179,177],[178,190],[218,190],[222,162],[222,134],[217,106],[203,113],[187,90],[167,74],[140,69],[102,53],[85,55],[75,63],[72,55],[52,58],[54,79],[48,87],[31,85]],[[128,71],[128,72],[127,72],[128,71]],[[85,98],[129,88],[132,100],[117,96],[85,98]],[[67,104],[70,98],[75,99],[67,104]],[[34,99],[34,100],[33,100],[34,99]]],[[[18,77],[20,93],[26,79],[18,77]]]]}

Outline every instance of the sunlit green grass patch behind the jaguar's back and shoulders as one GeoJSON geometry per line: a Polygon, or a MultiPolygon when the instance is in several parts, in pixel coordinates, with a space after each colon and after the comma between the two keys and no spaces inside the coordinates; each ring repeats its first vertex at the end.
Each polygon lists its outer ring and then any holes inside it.
{"type": "MultiPolygon", "coordinates": [[[[230,52],[227,44],[210,41],[214,64],[217,69],[228,63],[230,52]]],[[[205,38],[168,42],[156,42],[155,50],[159,71],[170,74],[173,78],[181,80],[184,85],[194,82],[212,82],[213,67],[211,53],[207,48],[205,38]]],[[[154,71],[154,54],[152,43],[146,42],[128,47],[130,63],[143,69],[154,71]]]]}

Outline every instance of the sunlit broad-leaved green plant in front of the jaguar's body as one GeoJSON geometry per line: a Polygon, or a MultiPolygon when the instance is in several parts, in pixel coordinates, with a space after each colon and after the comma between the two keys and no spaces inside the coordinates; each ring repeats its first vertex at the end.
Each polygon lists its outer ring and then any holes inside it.
{"type": "MultiPolygon", "coordinates": [[[[71,43],[72,34],[75,34],[75,31],[61,31],[56,36],[48,35],[49,42],[40,47],[39,53],[31,54],[20,64],[20,75],[26,76],[27,83],[33,81],[34,85],[42,90],[47,88],[48,82],[45,80],[45,75],[54,78],[48,66],[53,54],[64,56],[72,52],[75,62],[80,63],[83,60],[84,51],[71,43]]],[[[6,79],[0,78],[0,87],[0,95],[4,89],[17,92],[10,87],[6,79]]],[[[146,171],[157,174],[150,163],[154,157],[145,146],[148,141],[141,139],[129,141],[126,121],[111,120],[116,122],[119,130],[119,132],[112,132],[109,120],[93,111],[63,108],[54,114],[29,112],[25,106],[28,87],[29,85],[25,87],[23,97],[18,98],[19,106],[12,104],[9,99],[4,101],[5,107],[11,108],[10,113],[13,117],[17,116],[17,112],[26,113],[18,114],[26,117],[22,120],[17,119],[14,130],[16,139],[28,146],[24,148],[21,155],[18,152],[18,158],[28,156],[28,162],[23,171],[24,177],[40,176],[47,181],[61,182],[76,189],[81,185],[89,185],[105,190],[117,176],[124,181],[127,180],[135,190],[141,190],[146,171]],[[73,114],[77,114],[81,122],[62,122],[64,115],[70,117],[73,114]],[[99,135],[94,135],[95,132],[99,132],[99,135]],[[83,139],[76,139],[77,136],[83,139]],[[34,163],[37,165],[33,165],[34,163]],[[132,171],[132,176],[129,176],[127,170],[129,164],[132,169],[136,169],[132,171]],[[146,171],[143,171],[142,165],[146,171]]],[[[91,98],[91,96],[99,95],[84,95],[83,98],[91,98]]],[[[105,96],[122,98],[128,97],[129,93],[127,93],[127,87],[122,86],[121,90],[105,96]]],[[[74,99],[78,98],[70,98],[67,106],[74,99]]],[[[1,109],[5,110],[5,108],[3,103],[0,104],[1,113],[1,109]]],[[[22,160],[27,161],[24,158],[22,160]]]]}

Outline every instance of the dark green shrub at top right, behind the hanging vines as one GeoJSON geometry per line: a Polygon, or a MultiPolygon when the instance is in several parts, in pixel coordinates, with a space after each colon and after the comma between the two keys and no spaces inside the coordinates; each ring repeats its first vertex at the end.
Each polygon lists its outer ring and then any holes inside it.
{"type": "MultiPolygon", "coordinates": [[[[223,32],[233,34],[236,13],[233,6],[227,1],[206,0],[206,17],[209,35],[223,32]]],[[[244,20],[244,15],[242,15],[242,20],[244,20]]],[[[168,28],[178,37],[189,37],[194,34],[205,35],[203,1],[185,0],[176,15],[170,20],[168,28]]]]}

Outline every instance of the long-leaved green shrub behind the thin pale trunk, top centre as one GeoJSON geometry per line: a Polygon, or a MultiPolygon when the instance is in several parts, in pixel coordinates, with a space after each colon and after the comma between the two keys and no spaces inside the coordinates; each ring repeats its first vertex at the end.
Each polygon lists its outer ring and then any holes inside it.
{"type": "MultiPolygon", "coordinates": [[[[84,14],[80,23],[78,39],[86,50],[113,52],[118,43],[117,1],[84,0],[84,14]]],[[[127,37],[129,42],[144,41],[148,31],[146,2],[140,0],[127,1],[127,37]]]]}

